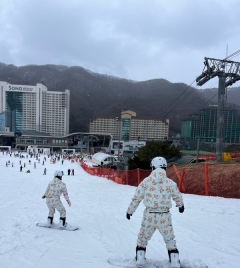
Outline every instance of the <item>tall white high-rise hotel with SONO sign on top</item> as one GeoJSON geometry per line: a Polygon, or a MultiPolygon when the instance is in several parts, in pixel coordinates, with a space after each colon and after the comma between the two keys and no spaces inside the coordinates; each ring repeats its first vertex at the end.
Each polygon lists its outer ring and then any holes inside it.
{"type": "Polygon", "coordinates": [[[1,129],[69,134],[70,91],[48,91],[43,84],[12,85],[0,81],[1,129]]]}

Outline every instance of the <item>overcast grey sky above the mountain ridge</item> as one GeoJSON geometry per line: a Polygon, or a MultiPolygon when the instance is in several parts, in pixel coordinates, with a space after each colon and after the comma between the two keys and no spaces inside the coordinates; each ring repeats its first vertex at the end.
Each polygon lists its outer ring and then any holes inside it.
{"type": "MultiPolygon", "coordinates": [[[[81,66],[189,85],[204,57],[239,49],[239,0],[0,0],[6,64],[81,66]]],[[[212,86],[217,80],[205,85],[212,86]]]]}

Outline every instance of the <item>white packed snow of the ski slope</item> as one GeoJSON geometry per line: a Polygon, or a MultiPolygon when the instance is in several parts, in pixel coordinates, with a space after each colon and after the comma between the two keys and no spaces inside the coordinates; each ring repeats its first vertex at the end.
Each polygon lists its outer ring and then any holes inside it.
{"type": "MultiPolygon", "coordinates": [[[[109,258],[133,258],[144,206],[126,219],[136,187],[118,185],[86,173],[79,163],[65,160],[42,165],[34,158],[0,153],[0,267],[1,268],[108,268],[109,258]],[[6,167],[6,161],[10,165],[6,167]],[[26,167],[20,172],[20,164],[26,167]],[[36,162],[36,168],[34,168],[36,162]],[[13,163],[13,167],[12,167],[13,163]],[[43,175],[44,168],[47,175],[43,175]],[[67,175],[68,168],[75,175],[67,175]],[[30,173],[26,173],[27,170],[30,173]],[[67,222],[80,230],[40,228],[48,216],[42,199],[54,171],[63,170],[72,206],[67,222]]],[[[239,178],[236,178],[239,179],[239,178]]],[[[240,183],[240,182],[239,182],[240,183]]],[[[173,227],[182,261],[204,262],[209,268],[240,267],[240,200],[184,194],[183,214],[173,206],[173,227]]],[[[55,213],[55,222],[59,213],[55,213]]],[[[161,235],[155,232],[146,257],[167,260],[161,235]]]]}

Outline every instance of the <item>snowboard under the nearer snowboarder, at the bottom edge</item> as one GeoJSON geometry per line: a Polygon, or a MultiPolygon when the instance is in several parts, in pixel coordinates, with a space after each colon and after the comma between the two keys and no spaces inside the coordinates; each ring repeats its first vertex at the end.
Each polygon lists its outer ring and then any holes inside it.
{"type": "MultiPolygon", "coordinates": [[[[135,258],[112,258],[108,262],[113,266],[124,267],[124,268],[138,268],[135,258]]],[[[150,260],[146,259],[144,268],[170,268],[170,263],[168,260],[150,260]]],[[[181,268],[208,268],[200,260],[183,260],[181,261],[181,268]]]]}

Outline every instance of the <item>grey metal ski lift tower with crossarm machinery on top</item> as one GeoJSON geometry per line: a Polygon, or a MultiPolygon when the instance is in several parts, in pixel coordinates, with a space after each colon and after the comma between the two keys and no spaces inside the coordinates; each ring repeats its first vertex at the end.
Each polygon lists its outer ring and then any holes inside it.
{"type": "Polygon", "coordinates": [[[226,88],[240,80],[239,62],[226,59],[218,60],[204,58],[204,68],[201,75],[196,78],[198,86],[202,86],[210,79],[218,76],[218,109],[217,109],[217,132],[216,132],[216,160],[222,161],[223,153],[223,125],[224,125],[224,101],[226,88]]]}

